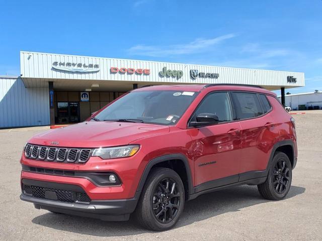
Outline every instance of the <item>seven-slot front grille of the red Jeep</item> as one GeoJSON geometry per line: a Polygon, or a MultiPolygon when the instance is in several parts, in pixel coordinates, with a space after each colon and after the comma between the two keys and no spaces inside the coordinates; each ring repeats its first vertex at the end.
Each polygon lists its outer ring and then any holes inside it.
{"type": "Polygon", "coordinates": [[[86,163],[94,149],[57,148],[27,144],[25,157],[39,161],[86,163]]]}

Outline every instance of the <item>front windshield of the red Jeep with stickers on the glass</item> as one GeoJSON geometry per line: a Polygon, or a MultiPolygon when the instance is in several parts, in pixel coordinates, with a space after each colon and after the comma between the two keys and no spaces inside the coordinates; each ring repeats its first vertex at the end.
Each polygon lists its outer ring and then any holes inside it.
{"type": "Polygon", "coordinates": [[[134,91],[116,100],[95,116],[95,121],[175,125],[197,92],[134,91]]]}

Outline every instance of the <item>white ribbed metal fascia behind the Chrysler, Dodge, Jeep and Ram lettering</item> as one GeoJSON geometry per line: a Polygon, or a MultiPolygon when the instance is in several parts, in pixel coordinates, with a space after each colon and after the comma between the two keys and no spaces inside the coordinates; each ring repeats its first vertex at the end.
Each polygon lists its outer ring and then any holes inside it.
{"type": "Polygon", "coordinates": [[[243,68],[228,68],[205,65],[175,64],[153,61],[128,60],[96,58],[63,54],[48,54],[35,52],[20,52],[21,73],[23,78],[46,78],[46,79],[88,79],[88,80],[119,80],[135,82],[171,82],[171,83],[235,83],[235,84],[253,84],[262,86],[304,86],[304,73],[257,70],[243,68]],[[100,71],[95,73],[72,73],[66,71],[57,71],[52,68],[52,63],[73,62],[85,64],[99,64],[100,71]],[[111,67],[124,68],[148,68],[149,75],[138,74],[112,74],[111,67]],[[176,77],[161,77],[159,71],[163,67],[171,70],[182,70],[184,75],[177,79],[176,77]],[[198,69],[199,72],[218,73],[219,78],[197,78],[190,77],[190,70],[198,69]],[[288,83],[287,76],[297,78],[296,83],[288,83]]]}

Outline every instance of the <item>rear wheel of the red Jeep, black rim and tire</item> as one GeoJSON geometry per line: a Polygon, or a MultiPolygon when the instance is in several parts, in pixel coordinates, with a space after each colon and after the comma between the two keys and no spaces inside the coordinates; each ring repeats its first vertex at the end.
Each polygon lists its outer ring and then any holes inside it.
{"type": "Polygon", "coordinates": [[[283,199],[290,190],[292,166],[285,153],[276,152],[266,181],[258,185],[260,194],[270,200],[283,199]]]}

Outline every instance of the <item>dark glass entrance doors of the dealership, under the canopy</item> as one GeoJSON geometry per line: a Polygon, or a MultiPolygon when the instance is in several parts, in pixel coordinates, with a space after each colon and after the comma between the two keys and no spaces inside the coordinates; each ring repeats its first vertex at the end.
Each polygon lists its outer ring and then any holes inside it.
{"type": "Polygon", "coordinates": [[[79,122],[79,102],[57,102],[57,123],[79,122]]]}

